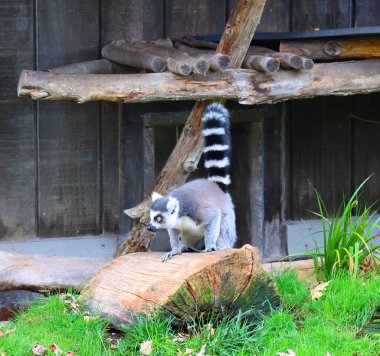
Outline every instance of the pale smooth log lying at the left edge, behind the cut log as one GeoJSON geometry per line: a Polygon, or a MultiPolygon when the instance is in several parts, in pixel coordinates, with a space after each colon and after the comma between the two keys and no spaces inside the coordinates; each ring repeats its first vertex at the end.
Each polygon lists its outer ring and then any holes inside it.
{"type": "Polygon", "coordinates": [[[108,261],[0,251],[0,291],[78,289],[108,261]]]}

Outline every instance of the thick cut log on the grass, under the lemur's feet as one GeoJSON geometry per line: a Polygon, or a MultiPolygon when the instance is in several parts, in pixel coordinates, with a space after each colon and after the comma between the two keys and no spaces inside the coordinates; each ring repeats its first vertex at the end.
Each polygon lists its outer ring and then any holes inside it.
{"type": "Polygon", "coordinates": [[[123,327],[159,307],[176,322],[205,313],[250,311],[257,317],[280,304],[258,250],[245,245],[212,253],[184,253],[165,263],[161,253],[121,256],[96,273],[82,292],[94,312],[123,327]]]}

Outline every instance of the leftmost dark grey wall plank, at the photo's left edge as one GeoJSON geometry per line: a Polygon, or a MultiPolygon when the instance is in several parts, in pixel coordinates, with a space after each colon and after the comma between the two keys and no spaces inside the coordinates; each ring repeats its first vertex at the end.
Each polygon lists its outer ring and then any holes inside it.
{"type": "Polygon", "coordinates": [[[33,26],[32,2],[0,2],[0,241],[36,232],[36,104],[15,93],[34,67],[33,26]]]}

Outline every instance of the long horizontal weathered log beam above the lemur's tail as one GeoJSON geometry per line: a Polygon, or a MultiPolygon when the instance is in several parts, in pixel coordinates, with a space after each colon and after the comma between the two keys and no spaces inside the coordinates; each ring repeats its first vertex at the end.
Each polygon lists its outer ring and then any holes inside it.
{"type": "Polygon", "coordinates": [[[69,75],[24,70],[18,85],[20,97],[78,103],[231,99],[254,105],[376,91],[380,91],[380,60],[376,59],[317,64],[309,71],[228,70],[190,77],[167,72],[69,75]]]}

